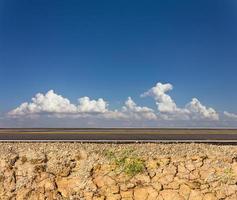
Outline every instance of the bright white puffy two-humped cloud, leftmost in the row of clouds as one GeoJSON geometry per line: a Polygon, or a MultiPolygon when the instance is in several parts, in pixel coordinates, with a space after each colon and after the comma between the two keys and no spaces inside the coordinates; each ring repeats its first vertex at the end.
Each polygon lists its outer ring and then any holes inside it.
{"type": "Polygon", "coordinates": [[[32,102],[24,102],[8,114],[17,117],[37,114],[103,113],[107,111],[107,103],[101,98],[90,100],[89,97],[82,97],[78,101],[78,105],[72,104],[67,98],[50,90],[45,95],[36,94],[32,98],[32,102]]]}

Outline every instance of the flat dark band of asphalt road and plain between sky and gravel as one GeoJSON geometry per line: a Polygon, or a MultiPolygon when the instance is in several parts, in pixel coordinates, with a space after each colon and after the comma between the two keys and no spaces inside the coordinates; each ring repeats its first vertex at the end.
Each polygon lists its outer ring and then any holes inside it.
{"type": "Polygon", "coordinates": [[[237,129],[30,128],[0,129],[1,141],[237,142],[237,129]]]}

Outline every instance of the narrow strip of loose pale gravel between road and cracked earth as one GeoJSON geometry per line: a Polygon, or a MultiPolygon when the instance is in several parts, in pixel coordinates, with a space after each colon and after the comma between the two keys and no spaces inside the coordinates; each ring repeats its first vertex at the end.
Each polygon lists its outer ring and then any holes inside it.
{"type": "Polygon", "coordinates": [[[64,142],[48,142],[48,143],[0,143],[0,154],[8,154],[12,151],[34,150],[34,151],[77,151],[84,149],[90,152],[103,153],[105,149],[115,148],[118,151],[122,149],[132,148],[140,155],[167,155],[167,156],[183,156],[183,155],[225,155],[227,157],[237,155],[237,145],[209,145],[209,144],[156,144],[156,143],[132,143],[132,144],[97,144],[97,143],[64,143],[64,142]]]}

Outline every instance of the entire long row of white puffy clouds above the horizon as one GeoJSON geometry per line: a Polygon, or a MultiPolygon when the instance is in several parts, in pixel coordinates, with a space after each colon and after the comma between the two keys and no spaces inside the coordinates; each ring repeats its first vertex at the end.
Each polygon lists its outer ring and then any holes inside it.
{"type": "MultiPolygon", "coordinates": [[[[175,100],[168,94],[173,89],[170,83],[157,83],[152,88],[141,94],[142,98],[151,97],[154,100],[154,109],[137,105],[131,97],[128,97],[121,108],[111,110],[108,101],[103,98],[90,99],[81,97],[76,103],[53,90],[47,93],[36,94],[30,102],[24,102],[7,113],[8,118],[71,118],[91,120],[110,120],[139,122],[141,124],[153,122],[183,121],[183,124],[194,122],[216,123],[222,116],[231,120],[237,120],[237,115],[225,111],[220,115],[214,108],[203,105],[194,97],[184,107],[179,107],[175,100]]],[[[101,121],[100,121],[101,122],[101,121]]]]}

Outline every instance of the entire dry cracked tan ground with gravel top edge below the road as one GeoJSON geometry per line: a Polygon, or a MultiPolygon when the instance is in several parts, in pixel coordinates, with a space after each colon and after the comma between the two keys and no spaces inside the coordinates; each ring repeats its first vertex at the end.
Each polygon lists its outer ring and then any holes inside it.
{"type": "Polygon", "coordinates": [[[237,146],[1,143],[0,199],[237,200],[237,146]]]}

